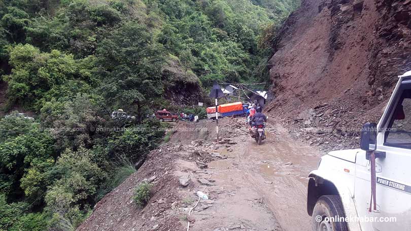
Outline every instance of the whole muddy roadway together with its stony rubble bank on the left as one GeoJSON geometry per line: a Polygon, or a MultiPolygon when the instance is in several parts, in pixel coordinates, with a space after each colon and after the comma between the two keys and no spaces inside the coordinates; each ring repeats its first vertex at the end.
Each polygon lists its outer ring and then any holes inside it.
{"type": "Polygon", "coordinates": [[[317,167],[319,151],[278,124],[268,125],[267,140],[257,145],[244,118],[221,121],[223,144],[214,141],[212,122],[176,126],[181,130],[170,142],[150,152],[139,171],[98,202],[77,230],[181,231],[188,221],[191,231],[311,230],[306,176],[317,167]],[[189,177],[189,184],[181,185],[180,177],[189,177]],[[152,198],[138,208],[133,188],[149,179],[152,198]],[[188,216],[198,190],[210,200],[201,200],[188,216]]]}

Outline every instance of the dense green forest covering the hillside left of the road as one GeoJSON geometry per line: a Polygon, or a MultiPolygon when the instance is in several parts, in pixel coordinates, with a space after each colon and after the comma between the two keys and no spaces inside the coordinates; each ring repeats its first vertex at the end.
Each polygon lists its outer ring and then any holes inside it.
{"type": "Polygon", "coordinates": [[[268,81],[277,28],[298,4],[0,0],[2,110],[35,114],[0,120],[0,230],[74,230],[163,142],[167,125],[147,114],[201,113],[169,92],[268,81]],[[111,120],[117,108],[136,119],[111,120]]]}

